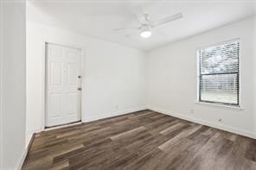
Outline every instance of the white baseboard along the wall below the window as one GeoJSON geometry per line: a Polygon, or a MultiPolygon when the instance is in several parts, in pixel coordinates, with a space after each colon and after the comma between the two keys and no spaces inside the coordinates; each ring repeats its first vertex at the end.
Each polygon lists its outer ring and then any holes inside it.
{"type": "Polygon", "coordinates": [[[233,127],[223,125],[223,124],[211,123],[211,122],[208,122],[208,121],[205,121],[205,120],[202,120],[202,119],[196,119],[196,118],[191,117],[191,116],[183,116],[181,114],[174,113],[174,112],[171,112],[169,110],[163,110],[163,109],[152,107],[152,106],[147,106],[147,109],[157,111],[157,112],[163,113],[165,115],[175,116],[177,118],[181,118],[181,119],[187,120],[189,122],[207,125],[207,126],[215,128],[215,129],[221,129],[221,130],[225,130],[225,131],[228,131],[228,132],[231,132],[231,133],[234,133],[234,134],[244,135],[246,137],[256,139],[256,135],[254,133],[250,132],[250,131],[246,131],[246,130],[242,130],[242,129],[235,129],[233,127]]]}

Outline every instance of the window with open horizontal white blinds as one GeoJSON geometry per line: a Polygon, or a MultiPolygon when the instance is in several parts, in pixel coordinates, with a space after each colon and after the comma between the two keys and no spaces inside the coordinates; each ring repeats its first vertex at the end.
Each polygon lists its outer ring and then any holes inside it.
{"type": "Polygon", "coordinates": [[[197,51],[199,102],[240,105],[239,41],[197,51]]]}

